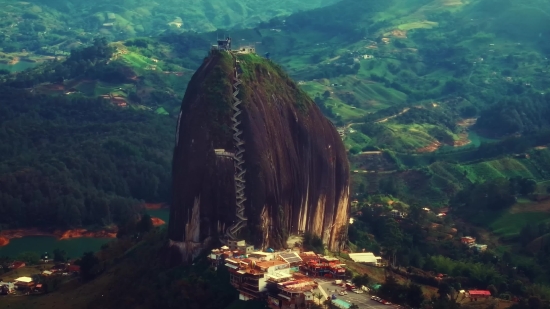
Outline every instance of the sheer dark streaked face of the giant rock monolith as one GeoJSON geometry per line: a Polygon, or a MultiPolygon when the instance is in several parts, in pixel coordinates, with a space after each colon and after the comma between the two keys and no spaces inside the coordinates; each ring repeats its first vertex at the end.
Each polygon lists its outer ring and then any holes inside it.
{"type": "Polygon", "coordinates": [[[188,262],[239,221],[239,149],[245,150],[248,219],[239,238],[257,248],[284,248],[290,234],[309,231],[335,250],[349,212],[349,166],[335,127],[271,61],[213,51],[188,85],[177,125],[171,263],[188,262]],[[239,148],[231,119],[236,72],[239,148]]]}

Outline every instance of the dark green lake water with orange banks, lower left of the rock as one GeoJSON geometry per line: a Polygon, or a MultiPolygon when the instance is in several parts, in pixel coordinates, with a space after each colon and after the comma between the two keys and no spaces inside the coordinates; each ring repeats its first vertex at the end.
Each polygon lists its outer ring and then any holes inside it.
{"type": "MultiPolygon", "coordinates": [[[[168,209],[147,210],[152,217],[157,217],[168,223],[170,211],[168,209]]],[[[7,246],[0,247],[0,256],[15,258],[22,252],[44,252],[53,253],[54,249],[62,249],[67,252],[68,257],[77,258],[84,252],[97,252],[101,246],[112,241],[111,238],[72,238],[59,240],[50,236],[27,236],[23,238],[10,239],[7,246]]]]}

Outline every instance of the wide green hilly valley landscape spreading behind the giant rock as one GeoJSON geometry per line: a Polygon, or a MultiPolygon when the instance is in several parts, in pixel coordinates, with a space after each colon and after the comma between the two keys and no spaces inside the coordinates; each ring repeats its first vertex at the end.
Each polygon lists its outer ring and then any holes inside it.
{"type": "Polygon", "coordinates": [[[449,270],[455,289],[490,283],[503,300],[550,297],[547,2],[4,2],[0,229],[124,226],[144,203],[168,202],[181,100],[227,34],[280,64],[342,137],[355,222],[346,251],[393,252],[403,267],[449,270]],[[432,212],[417,216],[422,207],[432,212]],[[386,220],[392,211],[409,219],[386,220]],[[456,245],[468,235],[486,254],[456,245]],[[494,273],[460,281],[472,273],[439,256],[494,273]]]}

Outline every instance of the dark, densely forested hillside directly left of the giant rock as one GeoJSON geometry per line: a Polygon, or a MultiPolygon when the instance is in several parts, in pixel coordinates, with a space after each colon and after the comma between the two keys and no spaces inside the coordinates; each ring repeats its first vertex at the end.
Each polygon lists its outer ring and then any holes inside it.
{"type": "Polygon", "coordinates": [[[173,121],[0,88],[0,225],[125,223],[170,191],[173,121]]]}

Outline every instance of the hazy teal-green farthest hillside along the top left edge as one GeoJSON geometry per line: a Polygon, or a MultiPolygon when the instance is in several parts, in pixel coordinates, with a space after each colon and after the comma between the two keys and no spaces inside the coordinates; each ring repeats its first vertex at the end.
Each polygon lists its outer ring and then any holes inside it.
{"type": "Polygon", "coordinates": [[[4,31],[0,42],[10,52],[21,49],[68,52],[97,35],[115,40],[158,35],[170,29],[207,32],[249,27],[275,16],[336,1],[2,0],[0,27],[4,31]]]}

